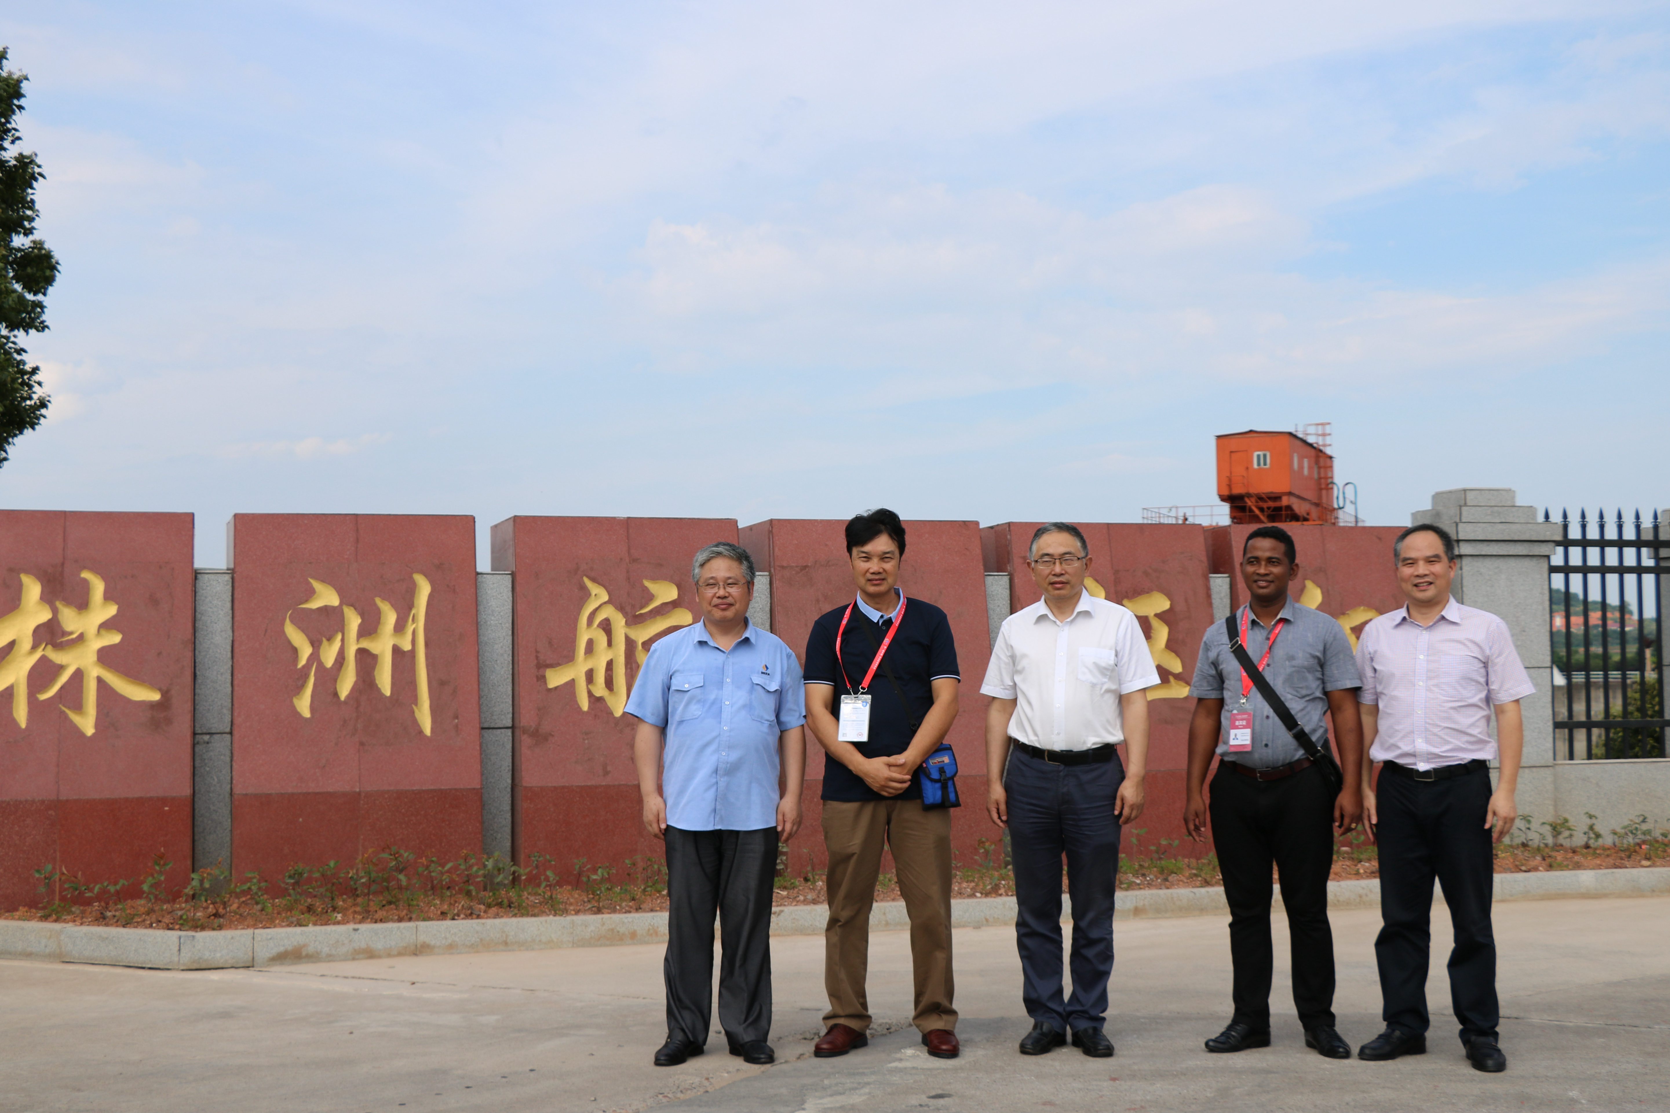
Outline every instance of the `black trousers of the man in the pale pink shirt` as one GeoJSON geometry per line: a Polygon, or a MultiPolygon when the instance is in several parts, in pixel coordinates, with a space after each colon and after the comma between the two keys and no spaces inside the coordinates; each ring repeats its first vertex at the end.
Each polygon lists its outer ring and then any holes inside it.
{"type": "Polygon", "coordinates": [[[1450,1005],[1461,1043],[1496,1038],[1496,936],[1490,928],[1495,884],[1485,813],[1490,771],[1448,781],[1379,776],[1379,914],[1374,939],[1386,1025],[1425,1033],[1426,968],[1431,953],[1433,878],[1443,886],[1455,928],[1450,949],[1450,1005]]]}

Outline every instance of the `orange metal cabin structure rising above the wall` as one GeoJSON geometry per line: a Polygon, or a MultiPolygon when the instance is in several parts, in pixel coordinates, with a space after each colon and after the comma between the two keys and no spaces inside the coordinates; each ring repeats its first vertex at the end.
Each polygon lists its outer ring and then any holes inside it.
{"type": "Polygon", "coordinates": [[[1329,441],[1329,422],[1217,437],[1217,497],[1229,504],[1229,521],[1336,526],[1329,441]]]}

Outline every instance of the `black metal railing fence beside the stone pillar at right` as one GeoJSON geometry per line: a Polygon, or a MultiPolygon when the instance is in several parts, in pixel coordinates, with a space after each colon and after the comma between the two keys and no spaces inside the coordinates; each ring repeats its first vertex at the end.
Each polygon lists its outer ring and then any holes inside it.
{"type": "Polygon", "coordinates": [[[1663,758],[1670,522],[1640,511],[1625,522],[1620,509],[1612,521],[1578,511],[1575,522],[1560,511],[1560,524],[1565,541],[1548,562],[1555,746],[1566,761],[1663,758]]]}

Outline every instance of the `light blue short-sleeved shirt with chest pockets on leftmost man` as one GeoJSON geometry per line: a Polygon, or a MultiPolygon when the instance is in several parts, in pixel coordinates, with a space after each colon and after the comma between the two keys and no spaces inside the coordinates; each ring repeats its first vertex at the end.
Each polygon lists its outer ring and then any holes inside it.
{"type": "Polygon", "coordinates": [[[800,662],[753,622],[726,652],[703,622],[653,646],[626,714],[666,733],[668,826],[760,831],[777,824],[778,738],[807,721],[800,662]]]}

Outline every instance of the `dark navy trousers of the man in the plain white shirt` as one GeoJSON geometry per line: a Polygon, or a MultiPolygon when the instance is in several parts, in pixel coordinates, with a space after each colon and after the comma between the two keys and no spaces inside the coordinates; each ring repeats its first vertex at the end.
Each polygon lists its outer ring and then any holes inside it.
{"type": "Polygon", "coordinates": [[[1020,1001],[1032,1020],[1060,1031],[1107,1023],[1114,973],[1114,899],[1119,894],[1119,818],[1114,796],[1126,779],[1111,761],[1057,766],[1014,751],[1009,854],[1015,868],[1015,944],[1020,1001]],[[1072,894],[1072,996],[1062,993],[1060,863],[1072,894]]]}

